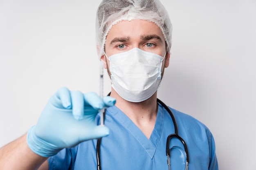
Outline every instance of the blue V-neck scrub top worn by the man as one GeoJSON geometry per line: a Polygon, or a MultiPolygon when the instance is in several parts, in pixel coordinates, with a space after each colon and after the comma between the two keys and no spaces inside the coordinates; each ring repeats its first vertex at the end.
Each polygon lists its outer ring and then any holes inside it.
{"type": "MultiPolygon", "coordinates": [[[[171,108],[179,135],[189,150],[189,170],[218,170],[214,139],[209,129],[193,117],[171,108]]],[[[97,122],[99,122],[99,114],[97,122]]],[[[158,106],[150,139],[116,106],[106,109],[105,123],[110,135],[101,140],[101,170],[168,170],[166,139],[174,133],[169,113],[158,106]]],[[[49,157],[49,170],[97,170],[97,139],[63,149],[49,157]]],[[[171,169],[184,170],[182,143],[171,139],[171,169]]]]}

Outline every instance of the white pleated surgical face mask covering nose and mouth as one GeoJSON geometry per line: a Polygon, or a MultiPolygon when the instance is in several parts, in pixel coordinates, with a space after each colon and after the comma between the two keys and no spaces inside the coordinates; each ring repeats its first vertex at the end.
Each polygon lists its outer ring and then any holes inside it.
{"type": "Polygon", "coordinates": [[[112,88],[123,99],[129,102],[142,102],[159,88],[164,57],[133,48],[124,53],[111,55],[108,60],[112,88]]]}

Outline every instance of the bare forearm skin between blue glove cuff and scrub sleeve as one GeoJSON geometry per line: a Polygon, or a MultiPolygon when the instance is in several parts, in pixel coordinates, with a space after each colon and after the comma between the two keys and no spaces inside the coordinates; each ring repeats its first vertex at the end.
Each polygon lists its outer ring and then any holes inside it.
{"type": "Polygon", "coordinates": [[[26,135],[0,149],[2,170],[36,170],[47,157],[41,157],[27,146],[26,135]]]}

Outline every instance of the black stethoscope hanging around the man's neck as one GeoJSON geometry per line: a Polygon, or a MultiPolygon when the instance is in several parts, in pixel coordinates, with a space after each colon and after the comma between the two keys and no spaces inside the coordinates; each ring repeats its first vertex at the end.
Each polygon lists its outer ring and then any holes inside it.
{"type": "MultiPolygon", "coordinates": [[[[108,94],[110,95],[110,93],[108,94]]],[[[161,104],[166,110],[167,112],[171,115],[171,118],[173,120],[173,126],[174,126],[174,133],[168,135],[167,137],[167,141],[166,141],[166,156],[167,156],[167,165],[169,170],[171,170],[171,163],[170,163],[170,156],[171,156],[171,150],[175,147],[171,147],[170,146],[170,141],[173,138],[177,138],[180,140],[180,142],[183,144],[184,146],[184,150],[185,150],[185,154],[186,154],[186,163],[185,163],[185,170],[188,170],[188,165],[189,165],[189,151],[188,148],[186,146],[186,142],[178,135],[178,126],[177,126],[177,122],[176,119],[173,115],[173,113],[171,112],[171,110],[168,108],[168,106],[166,106],[166,104],[164,104],[164,102],[162,102],[161,100],[157,99],[157,103],[161,104]]],[[[105,112],[104,112],[104,117],[105,117],[105,112]]],[[[97,170],[101,170],[101,159],[100,159],[100,145],[101,145],[101,138],[98,139],[97,141],[97,146],[96,146],[96,153],[97,153],[97,170]]]]}

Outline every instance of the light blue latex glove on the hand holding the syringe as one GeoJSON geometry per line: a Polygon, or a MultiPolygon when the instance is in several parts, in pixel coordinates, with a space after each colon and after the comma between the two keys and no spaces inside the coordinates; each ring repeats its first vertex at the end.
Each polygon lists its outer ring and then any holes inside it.
{"type": "Polygon", "coordinates": [[[115,99],[109,96],[101,99],[93,92],[60,88],[27,133],[27,144],[36,154],[49,157],[82,141],[107,136],[109,129],[97,126],[94,119],[99,109],[114,104],[115,99]]]}

